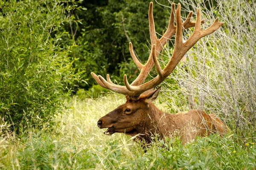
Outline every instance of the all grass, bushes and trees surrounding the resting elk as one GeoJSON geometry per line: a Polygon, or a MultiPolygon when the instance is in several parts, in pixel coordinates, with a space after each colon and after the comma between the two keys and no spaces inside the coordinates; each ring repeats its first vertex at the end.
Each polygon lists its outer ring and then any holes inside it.
{"type": "MultiPolygon", "coordinates": [[[[214,113],[230,127],[224,138],[216,134],[182,145],[154,136],[145,147],[96,127],[124,97],[96,85],[90,72],[111,74],[117,84],[123,74],[129,82],[138,75],[128,42],[144,63],[149,2],[0,0],[0,169],[256,168],[254,1],[174,1],[181,2],[183,17],[200,7],[202,28],[216,17],[225,24],[186,54],[163,83],[157,106],[171,113],[214,113]]],[[[158,37],[168,24],[169,6],[154,2],[158,37]]],[[[184,40],[192,31],[184,32],[184,40]]],[[[172,39],[162,51],[161,66],[173,45],[172,39]]]]}

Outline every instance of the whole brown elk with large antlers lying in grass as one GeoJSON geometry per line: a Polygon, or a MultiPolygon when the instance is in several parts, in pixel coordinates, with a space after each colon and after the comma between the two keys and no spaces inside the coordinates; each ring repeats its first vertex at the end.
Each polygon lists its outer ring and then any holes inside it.
{"type": "Polygon", "coordinates": [[[150,3],[148,19],[151,53],[148,61],[143,65],[135,56],[132,43],[130,42],[131,57],[140,69],[140,74],[131,85],[128,83],[126,75],[124,75],[125,86],[121,86],[114,84],[109,74],[107,74],[107,80],[105,80],[102,76],[97,76],[91,72],[92,77],[103,88],[126,95],[125,104],[120,105],[97,122],[99,128],[108,128],[105,131],[106,135],[125,133],[135,136],[134,138],[137,139],[144,139],[146,142],[151,142],[151,136],[155,134],[161,138],[165,136],[179,136],[183,143],[186,143],[191,142],[196,136],[207,136],[216,132],[223,134],[226,132],[227,126],[214,114],[207,114],[202,110],[191,110],[177,114],[164,113],[152,103],[157,98],[161,86],[156,90],[154,88],[172,73],[186,52],[198,40],[212,34],[224,23],[219,22],[217,18],[209,28],[202,30],[201,23],[204,23],[204,21],[201,20],[200,9],[197,9],[196,22],[191,21],[193,12],[190,11],[185,22],[182,23],[180,8],[179,3],[175,11],[175,4],[172,3],[168,28],[163,36],[158,39],[154,27],[153,3],[150,3]],[[183,42],[183,29],[190,27],[195,27],[194,32],[186,42],[183,42]],[[172,57],[166,67],[162,69],[157,61],[157,57],[163,46],[174,34],[176,36],[172,57]],[[155,66],[158,75],[150,81],[143,83],[153,66],[155,66]]]}

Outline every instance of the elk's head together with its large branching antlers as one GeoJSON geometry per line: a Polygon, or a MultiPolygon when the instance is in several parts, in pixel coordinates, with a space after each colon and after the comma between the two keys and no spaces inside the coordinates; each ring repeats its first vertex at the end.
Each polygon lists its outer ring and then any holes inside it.
{"type": "Polygon", "coordinates": [[[180,8],[181,7],[179,3],[177,6],[177,11],[175,11],[175,4],[172,3],[172,11],[168,28],[163,36],[158,39],[154,28],[153,3],[150,3],[148,19],[151,39],[151,53],[149,55],[148,61],[145,65],[143,65],[135,56],[132,44],[130,42],[131,57],[137,67],[140,69],[139,76],[131,83],[131,85],[128,83],[126,75],[124,75],[125,86],[121,86],[111,82],[108,74],[107,80],[105,80],[102,76],[97,76],[93,72],[91,73],[96,82],[103,88],[107,88],[116,91],[117,93],[126,95],[127,101],[125,104],[120,105],[115,110],[100,118],[97,122],[99,128],[108,128],[105,134],[113,134],[118,132],[126,133],[129,135],[136,135],[139,133],[138,129],[145,126],[145,123],[147,123],[145,122],[145,115],[149,113],[156,114],[154,113],[156,112],[156,109],[153,107],[151,102],[156,99],[160,88],[155,91],[153,89],[172,73],[186,52],[189,51],[189,49],[192,48],[192,46],[195,45],[198,40],[206,35],[212,34],[223,24],[223,22],[219,22],[218,19],[216,19],[209,28],[202,30],[201,23],[204,23],[204,21],[201,20],[201,12],[199,8],[197,9],[196,22],[192,22],[190,20],[193,14],[193,12],[190,11],[185,22],[182,23],[180,8]],[[195,27],[195,30],[189,39],[186,42],[183,42],[183,29],[190,27],[195,27]],[[160,51],[163,49],[163,46],[174,34],[176,34],[176,37],[172,57],[166,67],[162,69],[159,62],[157,61],[157,57],[160,54],[160,51]],[[150,81],[143,84],[153,66],[155,66],[157,70],[157,77],[154,77],[154,79],[151,79],[150,81]]]}

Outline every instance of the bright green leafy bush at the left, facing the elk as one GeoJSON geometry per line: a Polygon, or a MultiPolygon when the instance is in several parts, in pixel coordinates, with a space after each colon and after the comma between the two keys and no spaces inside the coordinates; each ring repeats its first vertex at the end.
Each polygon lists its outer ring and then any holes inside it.
{"type": "MultiPolygon", "coordinates": [[[[69,51],[58,41],[65,17],[63,1],[0,1],[0,116],[15,129],[51,123],[70,95],[69,51]],[[17,126],[18,125],[18,126],[17,126]]],[[[75,59],[76,60],[76,59],[75,59]]]]}

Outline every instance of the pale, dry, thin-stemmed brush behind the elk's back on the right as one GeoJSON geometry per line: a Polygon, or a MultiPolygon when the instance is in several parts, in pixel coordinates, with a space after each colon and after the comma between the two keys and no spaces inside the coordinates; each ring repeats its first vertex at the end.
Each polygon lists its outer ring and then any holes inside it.
{"type": "MultiPolygon", "coordinates": [[[[215,33],[202,38],[188,53],[186,62],[177,67],[165,83],[165,99],[175,111],[204,109],[219,115],[241,136],[255,140],[256,130],[256,3],[244,0],[216,0],[216,8],[207,8],[211,1],[183,2],[184,11],[200,7],[208,28],[218,17],[225,24],[215,33]],[[196,3],[198,2],[198,3],[196,3]],[[187,102],[184,102],[187,101],[187,102]]],[[[195,17],[195,16],[194,16],[195,17]]],[[[184,39],[193,29],[185,32],[184,39]]],[[[167,51],[171,57],[172,49],[167,51]]]]}

